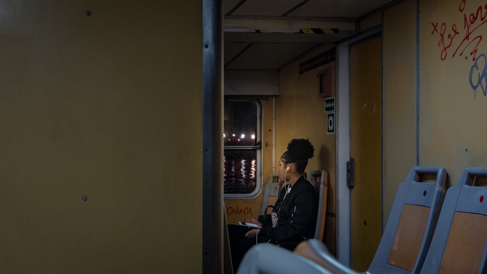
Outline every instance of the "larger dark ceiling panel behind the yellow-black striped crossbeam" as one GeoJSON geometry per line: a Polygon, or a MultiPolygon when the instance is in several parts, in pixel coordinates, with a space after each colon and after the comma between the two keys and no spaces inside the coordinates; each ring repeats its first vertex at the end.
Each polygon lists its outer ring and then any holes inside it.
{"type": "Polygon", "coordinates": [[[315,45],[314,43],[256,43],[225,69],[272,70],[281,68],[289,60],[308,51],[315,45]]]}

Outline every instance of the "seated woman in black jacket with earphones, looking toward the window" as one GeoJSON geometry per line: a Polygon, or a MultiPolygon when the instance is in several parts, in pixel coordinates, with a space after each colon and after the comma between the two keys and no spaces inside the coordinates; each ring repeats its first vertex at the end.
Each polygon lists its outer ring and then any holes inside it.
{"type": "Polygon", "coordinates": [[[314,155],[308,139],[293,139],[279,161],[279,178],[288,182],[281,190],[271,213],[272,223],[262,224],[256,219],[246,219],[262,229],[248,229],[229,225],[228,232],[232,260],[237,268],[245,252],[257,242],[268,242],[294,250],[303,240],[312,238],[318,212],[318,193],[304,178],[308,159],[314,155]]]}

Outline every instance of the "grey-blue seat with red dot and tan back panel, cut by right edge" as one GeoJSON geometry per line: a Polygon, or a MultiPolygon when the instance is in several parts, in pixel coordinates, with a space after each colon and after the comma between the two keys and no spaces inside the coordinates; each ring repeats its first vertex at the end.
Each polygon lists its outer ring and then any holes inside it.
{"type": "Polygon", "coordinates": [[[421,273],[487,273],[486,179],[469,167],[448,189],[421,273]]]}

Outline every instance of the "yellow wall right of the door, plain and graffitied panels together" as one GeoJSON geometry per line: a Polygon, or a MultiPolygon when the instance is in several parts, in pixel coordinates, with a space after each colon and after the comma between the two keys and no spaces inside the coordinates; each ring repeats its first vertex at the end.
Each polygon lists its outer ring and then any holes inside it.
{"type": "MultiPolygon", "coordinates": [[[[464,168],[487,165],[484,4],[420,1],[419,164],[446,167],[449,186],[464,168]]],[[[414,0],[384,13],[385,221],[397,184],[415,164],[415,20],[414,0]]]]}

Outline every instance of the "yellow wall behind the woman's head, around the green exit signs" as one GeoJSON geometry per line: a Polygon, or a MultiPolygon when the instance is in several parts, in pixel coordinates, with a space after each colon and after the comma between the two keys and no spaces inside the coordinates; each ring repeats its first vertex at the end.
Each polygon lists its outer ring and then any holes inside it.
{"type": "MultiPolygon", "coordinates": [[[[318,72],[332,69],[332,91],[335,96],[335,62],[299,74],[299,64],[326,50],[322,48],[281,70],[280,95],[276,99],[276,166],[287,144],[294,138],[309,138],[315,147],[315,157],[306,170],[326,169],[329,174],[327,212],[334,215],[335,206],[335,135],[326,133],[327,118],[324,98],[318,97],[318,72]]],[[[336,250],[335,217],[325,220],[325,243],[336,250]]]]}

